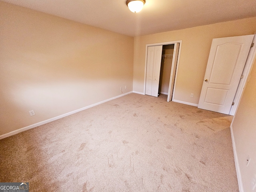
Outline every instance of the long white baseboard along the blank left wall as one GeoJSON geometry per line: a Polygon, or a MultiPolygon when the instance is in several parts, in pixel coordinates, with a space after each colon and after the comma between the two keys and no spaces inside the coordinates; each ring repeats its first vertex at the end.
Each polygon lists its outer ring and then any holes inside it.
{"type": "Polygon", "coordinates": [[[83,107],[83,108],[80,108],[80,109],[77,109],[77,110],[74,110],[74,111],[71,111],[71,112],[68,112],[68,113],[65,113],[65,114],[62,114],[62,115],[59,115],[59,116],[56,116],[56,117],[53,117],[53,118],[50,118],[50,119],[48,119],[48,120],[44,120],[44,121],[41,121],[41,122],[38,122],[38,123],[35,123],[35,124],[32,124],[32,125],[26,126],[26,127],[24,127],[24,128],[20,128],[20,129],[14,130],[14,131],[12,131],[12,132],[9,132],[9,133],[0,135],[0,140],[3,139],[3,138],[9,137],[9,136],[18,134],[18,133],[20,133],[20,132],[23,132],[23,131],[26,131],[26,130],[29,130],[29,129],[38,127],[38,126],[40,126],[40,125],[43,125],[43,124],[46,124],[46,123],[55,121],[55,120],[57,120],[57,119],[60,119],[60,118],[63,118],[63,117],[66,117],[66,116],[75,114],[75,113],[77,113],[77,112],[86,110],[86,109],[91,108],[91,107],[94,107],[94,106],[96,106],[96,105],[99,105],[99,104],[108,102],[108,101],[110,101],[110,100],[113,100],[113,99],[116,99],[116,98],[119,98],[119,97],[128,95],[128,94],[130,94],[130,93],[132,93],[132,91],[131,91],[131,92],[128,92],[128,93],[125,93],[125,94],[122,94],[122,95],[118,95],[118,96],[116,96],[116,97],[112,97],[112,98],[110,98],[110,99],[107,99],[107,100],[104,100],[104,101],[101,101],[101,102],[98,102],[98,103],[95,103],[95,104],[92,104],[92,105],[89,105],[89,106],[86,106],[86,107],[83,107]]]}

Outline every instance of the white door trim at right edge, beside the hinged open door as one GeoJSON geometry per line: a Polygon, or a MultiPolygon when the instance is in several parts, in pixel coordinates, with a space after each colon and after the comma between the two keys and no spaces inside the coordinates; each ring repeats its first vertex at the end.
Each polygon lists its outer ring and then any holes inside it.
{"type": "Polygon", "coordinates": [[[250,49],[248,58],[246,60],[246,63],[244,66],[244,71],[243,71],[244,77],[240,80],[240,83],[238,85],[238,88],[236,91],[236,96],[234,98],[234,105],[231,107],[230,112],[229,112],[230,115],[235,115],[235,113],[236,113],[236,110],[240,103],[240,99],[242,97],[242,93],[244,91],[244,87],[247,82],[247,78],[248,78],[251,68],[252,68],[252,64],[254,63],[254,60],[256,59],[256,35],[254,35],[252,43],[254,43],[254,46],[250,49]]]}

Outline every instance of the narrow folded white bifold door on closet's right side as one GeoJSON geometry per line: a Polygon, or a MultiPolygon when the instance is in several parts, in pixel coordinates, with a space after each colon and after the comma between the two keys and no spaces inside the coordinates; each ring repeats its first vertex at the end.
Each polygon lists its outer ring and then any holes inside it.
{"type": "Polygon", "coordinates": [[[167,102],[172,100],[172,92],[173,92],[173,88],[174,88],[174,79],[175,79],[177,62],[178,62],[179,48],[180,48],[180,44],[179,43],[175,43],[174,44],[173,57],[172,57],[172,69],[171,69],[171,76],[170,76],[170,84],[169,84],[169,91],[168,91],[167,102]]]}

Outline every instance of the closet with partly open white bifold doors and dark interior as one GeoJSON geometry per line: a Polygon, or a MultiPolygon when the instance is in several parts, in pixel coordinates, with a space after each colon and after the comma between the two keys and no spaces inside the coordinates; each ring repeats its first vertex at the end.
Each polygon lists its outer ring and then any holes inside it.
{"type": "Polygon", "coordinates": [[[165,94],[168,102],[174,98],[180,45],[181,41],[146,46],[144,94],[155,97],[165,94]]]}

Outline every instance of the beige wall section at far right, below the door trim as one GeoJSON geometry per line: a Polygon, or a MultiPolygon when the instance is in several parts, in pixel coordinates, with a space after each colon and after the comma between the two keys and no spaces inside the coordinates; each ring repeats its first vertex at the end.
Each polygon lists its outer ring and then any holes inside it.
{"type": "Polygon", "coordinates": [[[234,116],[232,130],[244,191],[252,191],[252,182],[256,180],[256,61],[234,116]],[[248,157],[250,162],[246,166],[248,157]]]}

